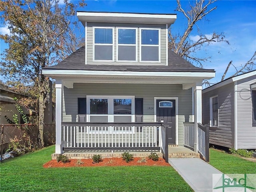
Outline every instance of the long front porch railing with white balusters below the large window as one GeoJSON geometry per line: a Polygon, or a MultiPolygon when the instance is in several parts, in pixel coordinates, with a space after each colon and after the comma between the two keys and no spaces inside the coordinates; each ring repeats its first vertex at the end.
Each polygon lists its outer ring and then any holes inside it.
{"type": "Polygon", "coordinates": [[[161,123],[62,123],[64,150],[159,148],[161,123]]]}

